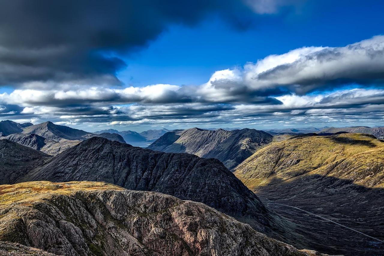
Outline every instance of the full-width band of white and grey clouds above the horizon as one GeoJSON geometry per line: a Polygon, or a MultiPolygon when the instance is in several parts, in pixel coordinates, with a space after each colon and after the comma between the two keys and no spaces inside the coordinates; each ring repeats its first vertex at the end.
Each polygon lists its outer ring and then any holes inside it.
{"type": "Polygon", "coordinates": [[[369,125],[384,118],[383,79],[384,36],[375,36],[344,47],[304,47],[267,56],[216,71],[207,83],[194,86],[64,83],[47,89],[31,82],[0,94],[0,118],[67,122],[83,129],[93,124],[369,125]]]}

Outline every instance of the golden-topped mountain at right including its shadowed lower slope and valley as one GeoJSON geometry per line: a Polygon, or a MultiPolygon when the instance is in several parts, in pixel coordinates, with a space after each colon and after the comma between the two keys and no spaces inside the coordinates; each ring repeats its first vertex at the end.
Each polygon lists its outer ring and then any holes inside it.
{"type": "Polygon", "coordinates": [[[258,150],[234,173],[280,215],[317,230],[308,236],[332,253],[380,255],[384,249],[384,142],[374,136],[294,136],[258,150]],[[326,225],[308,212],[379,240],[326,225]]]}

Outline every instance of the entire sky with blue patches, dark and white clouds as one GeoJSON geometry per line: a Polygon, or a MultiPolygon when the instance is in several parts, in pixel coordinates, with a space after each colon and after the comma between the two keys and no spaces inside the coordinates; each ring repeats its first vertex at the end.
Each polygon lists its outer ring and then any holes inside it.
{"type": "Polygon", "coordinates": [[[384,125],[381,1],[0,0],[0,120],[384,125]]]}

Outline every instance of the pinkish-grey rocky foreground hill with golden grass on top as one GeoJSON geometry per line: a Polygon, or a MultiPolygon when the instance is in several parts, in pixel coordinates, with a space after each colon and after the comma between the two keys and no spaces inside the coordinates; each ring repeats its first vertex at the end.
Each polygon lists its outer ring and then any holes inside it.
{"type": "Polygon", "coordinates": [[[1,248],[68,256],[310,255],[202,203],[160,193],[99,182],[28,182],[2,185],[0,193],[1,248]]]}

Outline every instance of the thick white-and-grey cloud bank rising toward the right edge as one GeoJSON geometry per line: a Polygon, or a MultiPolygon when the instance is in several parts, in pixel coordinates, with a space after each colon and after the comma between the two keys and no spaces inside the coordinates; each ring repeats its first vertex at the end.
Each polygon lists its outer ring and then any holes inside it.
{"type": "Polygon", "coordinates": [[[270,55],[242,70],[217,71],[209,83],[216,90],[254,92],[265,95],[334,88],[349,83],[384,83],[384,36],[344,47],[303,47],[282,55],[270,55]],[[212,79],[216,73],[236,75],[212,79]]]}

